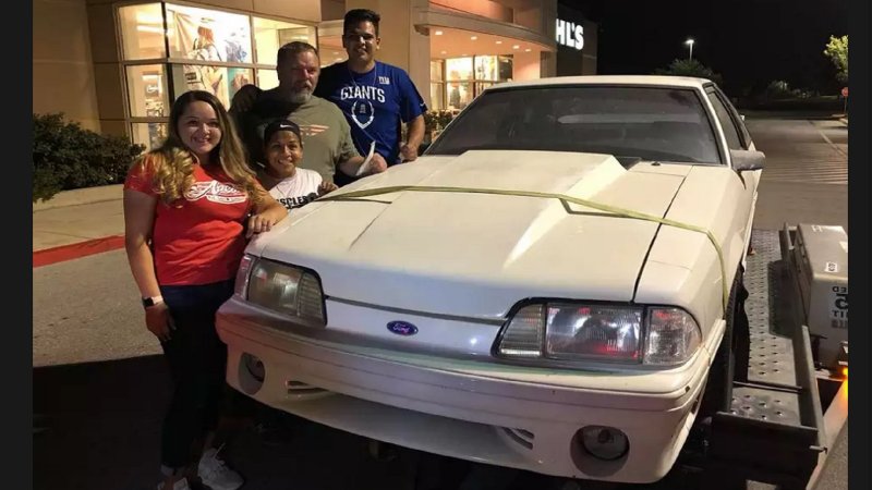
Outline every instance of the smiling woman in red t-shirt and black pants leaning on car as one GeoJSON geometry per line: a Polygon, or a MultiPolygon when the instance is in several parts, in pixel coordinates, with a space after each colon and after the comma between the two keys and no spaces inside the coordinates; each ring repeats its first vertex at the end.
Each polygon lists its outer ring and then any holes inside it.
{"type": "Polygon", "coordinates": [[[145,324],[160,340],[174,384],[161,433],[166,478],[158,489],[202,482],[233,490],[243,483],[211,444],[227,363],[215,313],[233,293],[246,238],[286,216],[246,164],[227,110],[206,91],[175,100],[166,143],[128,174],[128,260],[145,324]],[[204,448],[195,465],[190,453],[198,441],[204,448]]]}

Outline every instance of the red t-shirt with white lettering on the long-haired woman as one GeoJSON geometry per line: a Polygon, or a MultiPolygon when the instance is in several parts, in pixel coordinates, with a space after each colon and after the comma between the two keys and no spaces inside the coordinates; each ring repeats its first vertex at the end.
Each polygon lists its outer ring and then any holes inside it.
{"type": "MultiPolygon", "coordinates": [[[[124,188],[157,196],[147,160],[128,173],[124,188]]],[[[194,184],[184,198],[158,200],[152,233],[157,282],[161,285],[208,284],[237,273],[245,249],[243,222],[251,203],[225,172],[194,166],[194,184]]]]}

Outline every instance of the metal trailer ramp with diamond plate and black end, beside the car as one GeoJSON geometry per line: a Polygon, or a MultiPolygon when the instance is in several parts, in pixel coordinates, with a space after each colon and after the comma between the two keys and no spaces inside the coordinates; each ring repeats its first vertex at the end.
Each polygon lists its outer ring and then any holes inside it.
{"type": "MultiPolygon", "coordinates": [[[[713,475],[804,489],[825,451],[818,373],[777,231],[754,230],[744,284],[750,348],[737,356],[729,406],[708,427],[713,475]]],[[[798,301],[798,299],[797,299],[798,301]]],[[[737,353],[741,350],[737,348],[737,353]]]]}

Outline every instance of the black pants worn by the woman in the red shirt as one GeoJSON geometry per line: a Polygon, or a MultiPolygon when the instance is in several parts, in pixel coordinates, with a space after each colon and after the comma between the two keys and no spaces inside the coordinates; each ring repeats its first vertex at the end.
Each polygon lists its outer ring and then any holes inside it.
{"type": "Polygon", "coordinates": [[[191,464],[194,442],[215,430],[226,394],[227,346],[215,330],[215,313],[233,294],[233,280],[160,286],[175,330],[161,343],[173,392],[161,431],[161,469],[177,475],[191,464]]]}

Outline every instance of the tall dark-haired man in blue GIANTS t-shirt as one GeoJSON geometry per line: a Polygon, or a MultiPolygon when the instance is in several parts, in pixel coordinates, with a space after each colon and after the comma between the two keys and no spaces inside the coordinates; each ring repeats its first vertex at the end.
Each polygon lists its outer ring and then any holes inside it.
{"type": "Polygon", "coordinates": [[[392,166],[417,158],[427,107],[405,71],[375,60],[380,19],[366,9],[346,13],[342,46],[348,61],[322,70],[315,95],[339,106],[361,155],[367,155],[375,143],[375,151],[392,166]],[[401,142],[402,123],[407,124],[405,143],[401,142]]]}

